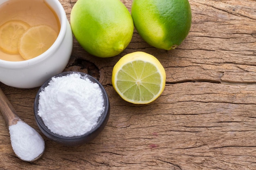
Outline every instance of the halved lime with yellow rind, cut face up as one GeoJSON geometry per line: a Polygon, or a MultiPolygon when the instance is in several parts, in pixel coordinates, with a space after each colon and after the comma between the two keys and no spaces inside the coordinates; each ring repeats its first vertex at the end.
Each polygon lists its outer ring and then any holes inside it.
{"type": "Polygon", "coordinates": [[[114,66],[112,84],[127,102],[148,104],[164,91],[166,73],[156,57],[141,51],[124,55],[114,66]]]}

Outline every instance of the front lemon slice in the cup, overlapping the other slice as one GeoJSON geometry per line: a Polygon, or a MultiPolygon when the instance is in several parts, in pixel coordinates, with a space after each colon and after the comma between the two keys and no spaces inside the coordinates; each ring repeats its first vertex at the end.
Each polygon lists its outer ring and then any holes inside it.
{"type": "Polygon", "coordinates": [[[20,55],[29,60],[50,48],[55,42],[58,33],[47,25],[31,26],[21,36],[18,44],[20,55]]]}

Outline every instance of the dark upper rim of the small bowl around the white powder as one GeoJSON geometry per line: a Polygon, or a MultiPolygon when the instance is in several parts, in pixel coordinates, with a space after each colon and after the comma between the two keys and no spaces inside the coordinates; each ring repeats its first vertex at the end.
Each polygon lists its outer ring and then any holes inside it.
{"type": "MultiPolygon", "coordinates": [[[[51,78],[49,78],[42,86],[40,86],[37,94],[36,94],[36,97],[35,97],[35,100],[34,100],[34,116],[35,116],[35,119],[36,119],[36,123],[38,124],[38,126],[40,126],[41,128],[43,128],[43,130],[45,132],[48,132],[49,135],[51,135],[52,137],[54,138],[58,138],[58,140],[74,140],[74,139],[80,139],[80,138],[85,138],[87,136],[90,136],[91,134],[93,134],[95,131],[97,131],[98,128],[101,127],[101,124],[104,123],[105,119],[108,118],[108,115],[110,114],[110,102],[109,102],[109,99],[108,99],[108,94],[105,90],[105,88],[103,87],[103,85],[97,80],[95,79],[94,77],[92,77],[91,75],[89,74],[86,74],[86,73],[83,73],[83,72],[79,72],[79,71],[66,71],[66,72],[61,72],[61,73],[58,73],[54,76],[52,76],[51,78]],[[83,135],[79,135],[79,136],[72,136],[72,137],[66,137],[66,136],[63,136],[63,135],[58,135],[54,132],[52,132],[51,130],[49,130],[49,128],[47,128],[47,126],[43,123],[43,120],[42,118],[38,115],[38,102],[39,102],[39,93],[41,91],[43,91],[43,89],[48,86],[49,82],[52,80],[52,78],[54,77],[62,77],[62,76],[66,76],[66,75],[70,75],[70,74],[80,74],[82,77],[88,77],[92,82],[95,82],[99,85],[99,87],[101,88],[101,91],[102,91],[102,95],[103,95],[103,101],[104,101],[104,111],[103,113],[101,114],[101,116],[99,117],[98,121],[97,121],[97,124],[96,126],[94,126],[94,128],[92,128],[90,131],[86,132],[85,134],[83,135]],[[37,106],[37,107],[36,107],[37,106]]],[[[42,131],[42,130],[41,130],[42,131]]],[[[43,132],[43,131],[42,131],[43,132]]],[[[44,133],[44,132],[43,132],[44,133]]]]}

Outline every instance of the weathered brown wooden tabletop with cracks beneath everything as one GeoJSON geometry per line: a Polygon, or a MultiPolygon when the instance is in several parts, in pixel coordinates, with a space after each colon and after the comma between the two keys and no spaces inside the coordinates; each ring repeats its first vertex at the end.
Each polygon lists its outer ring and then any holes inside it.
{"type": "MultiPolygon", "coordinates": [[[[132,0],[121,1],[130,11],[132,0]]],[[[70,20],[76,0],[60,2],[70,20]]],[[[34,119],[38,88],[0,83],[46,145],[38,161],[21,161],[0,115],[0,170],[256,170],[256,0],[189,2],[191,31],[172,51],[148,45],[136,30],[111,58],[89,55],[74,40],[65,71],[97,77],[111,105],[106,128],[88,144],[67,147],[47,139],[34,119]],[[151,104],[125,102],[111,84],[115,63],[135,51],[155,55],[166,70],[164,92],[151,104]]]]}

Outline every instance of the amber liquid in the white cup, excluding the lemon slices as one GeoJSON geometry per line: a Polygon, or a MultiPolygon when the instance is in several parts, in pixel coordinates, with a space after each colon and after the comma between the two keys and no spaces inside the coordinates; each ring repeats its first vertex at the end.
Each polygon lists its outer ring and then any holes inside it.
{"type": "MultiPolygon", "coordinates": [[[[0,26],[10,20],[22,20],[30,26],[45,24],[51,26],[57,33],[61,28],[56,13],[45,0],[9,0],[4,2],[0,5],[0,26]]],[[[19,54],[8,54],[1,49],[0,59],[7,61],[24,60],[19,54]]]]}

